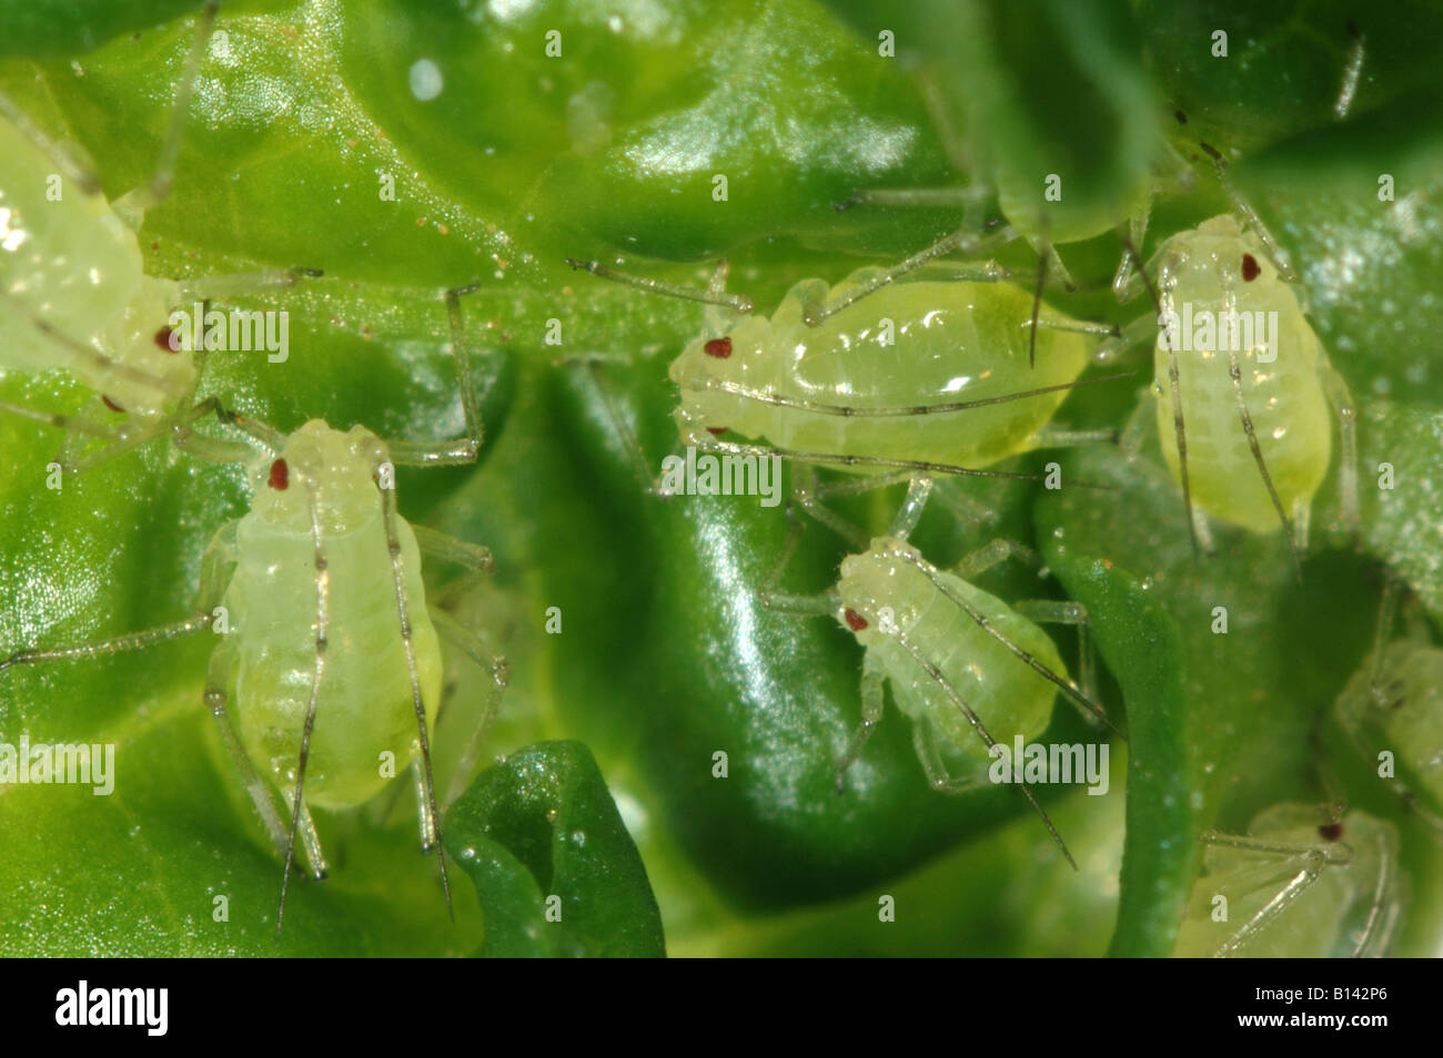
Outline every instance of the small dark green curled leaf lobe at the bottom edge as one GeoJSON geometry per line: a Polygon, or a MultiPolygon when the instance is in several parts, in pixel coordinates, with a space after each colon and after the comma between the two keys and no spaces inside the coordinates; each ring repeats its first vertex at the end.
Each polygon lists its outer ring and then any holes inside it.
{"type": "Polygon", "coordinates": [[[446,848],[481,897],[482,956],[665,954],[646,869],[580,742],[527,747],[478,775],[446,848]]]}

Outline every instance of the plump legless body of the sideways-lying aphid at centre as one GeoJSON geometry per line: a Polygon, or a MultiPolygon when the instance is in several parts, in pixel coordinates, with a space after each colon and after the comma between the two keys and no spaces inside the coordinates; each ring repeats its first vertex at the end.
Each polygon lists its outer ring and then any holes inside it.
{"type": "Polygon", "coordinates": [[[814,280],[798,284],[771,321],[743,320],[726,356],[707,352],[714,342],[693,342],[672,366],[684,438],[688,430],[726,427],[791,451],[986,467],[1026,451],[1066,394],[952,412],[922,408],[1065,385],[1087,366],[1087,337],[1043,330],[1029,369],[1032,295],[1006,283],[902,283],[820,327],[801,321],[804,298],[834,297],[854,281],[830,294],[814,280]],[[716,381],[769,391],[788,405],[707,388],[716,381]],[[838,415],[808,405],[918,411],[838,415]]]}

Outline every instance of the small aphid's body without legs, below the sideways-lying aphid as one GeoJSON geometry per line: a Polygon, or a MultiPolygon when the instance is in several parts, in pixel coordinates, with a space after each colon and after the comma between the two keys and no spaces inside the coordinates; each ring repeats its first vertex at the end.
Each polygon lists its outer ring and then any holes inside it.
{"type": "Polygon", "coordinates": [[[1009,641],[1063,679],[1066,667],[1052,640],[1006,603],[937,571],[944,592],[908,555],[918,552],[900,541],[877,538],[866,554],[843,559],[843,605],[866,621],[866,628],[854,628],[857,640],[882,663],[898,708],[913,719],[929,718],[958,750],[986,765],[987,747],[967,715],[896,633],[944,675],[993,739],[1009,751],[1017,735],[1030,741],[1046,729],[1058,689],[983,630],[947,592],[967,601],[1009,641]]]}

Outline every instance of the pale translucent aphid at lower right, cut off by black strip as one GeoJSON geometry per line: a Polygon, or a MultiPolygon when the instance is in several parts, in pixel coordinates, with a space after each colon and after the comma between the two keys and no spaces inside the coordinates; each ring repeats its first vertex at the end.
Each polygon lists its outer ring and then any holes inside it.
{"type": "Polygon", "coordinates": [[[1208,850],[1175,956],[1381,956],[1401,908],[1398,835],[1364,812],[1277,804],[1208,850]]]}

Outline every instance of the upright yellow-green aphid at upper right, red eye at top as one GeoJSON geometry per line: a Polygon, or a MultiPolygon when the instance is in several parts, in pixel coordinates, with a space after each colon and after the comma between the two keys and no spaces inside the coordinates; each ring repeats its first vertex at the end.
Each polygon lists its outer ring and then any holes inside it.
{"type": "MultiPolygon", "coordinates": [[[[1120,343],[1156,333],[1157,430],[1193,545],[1208,543],[1196,507],[1255,533],[1281,523],[1299,561],[1332,460],[1329,406],[1341,424],[1342,523],[1355,526],[1352,396],[1263,241],[1231,215],[1215,216],[1163,242],[1140,278],[1157,319],[1128,327],[1120,343]]],[[[1143,421],[1124,434],[1133,447],[1143,421]]]]}

